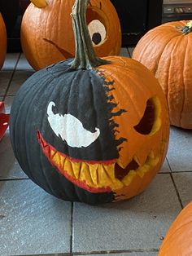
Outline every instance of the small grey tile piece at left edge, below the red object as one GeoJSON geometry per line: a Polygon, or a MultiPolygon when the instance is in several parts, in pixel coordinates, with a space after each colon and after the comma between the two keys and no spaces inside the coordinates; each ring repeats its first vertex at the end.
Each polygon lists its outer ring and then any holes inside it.
{"type": "Polygon", "coordinates": [[[15,159],[8,130],[0,141],[0,166],[0,179],[27,178],[15,159]]]}

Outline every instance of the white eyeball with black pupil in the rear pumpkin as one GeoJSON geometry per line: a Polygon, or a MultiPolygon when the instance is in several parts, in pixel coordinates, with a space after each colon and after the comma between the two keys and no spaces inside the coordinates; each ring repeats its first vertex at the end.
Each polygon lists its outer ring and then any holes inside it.
{"type": "Polygon", "coordinates": [[[106,29],[100,20],[92,20],[88,24],[89,35],[94,46],[102,45],[106,39],[106,29]]]}

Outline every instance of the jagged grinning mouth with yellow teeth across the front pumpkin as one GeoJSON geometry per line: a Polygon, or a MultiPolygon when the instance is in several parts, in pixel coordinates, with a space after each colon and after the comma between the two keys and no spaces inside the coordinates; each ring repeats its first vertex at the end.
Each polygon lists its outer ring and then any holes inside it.
{"type": "Polygon", "coordinates": [[[159,157],[154,157],[151,151],[144,165],[137,164],[137,158],[126,168],[122,168],[119,159],[109,161],[82,161],[68,157],[58,152],[49,143],[46,143],[41,133],[37,131],[37,139],[42,151],[50,163],[56,167],[60,174],[76,186],[89,192],[111,192],[129,186],[135,175],[143,175],[159,162],[159,157]]]}

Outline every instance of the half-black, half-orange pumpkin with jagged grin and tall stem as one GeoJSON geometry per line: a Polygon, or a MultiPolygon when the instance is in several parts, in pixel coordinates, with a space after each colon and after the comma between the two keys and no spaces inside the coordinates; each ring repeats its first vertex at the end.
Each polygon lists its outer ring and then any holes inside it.
{"type": "Polygon", "coordinates": [[[73,7],[75,59],[24,82],[10,129],[15,157],[35,183],[64,200],[98,204],[146,188],[164,161],[169,126],[164,93],[147,68],[95,55],[84,19],[88,2],[73,7]]]}

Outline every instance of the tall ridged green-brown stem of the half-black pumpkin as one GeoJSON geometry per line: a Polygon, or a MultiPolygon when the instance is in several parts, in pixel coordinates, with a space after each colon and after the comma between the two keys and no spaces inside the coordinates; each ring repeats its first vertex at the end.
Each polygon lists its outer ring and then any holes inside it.
{"type": "Polygon", "coordinates": [[[92,69],[110,61],[98,58],[94,52],[86,24],[86,8],[89,0],[76,0],[72,7],[72,28],[76,43],[75,59],[70,63],[71,68],[92,69]]]}

